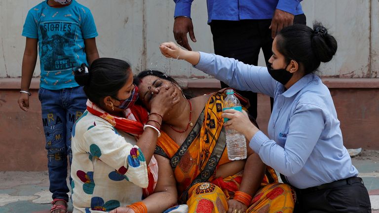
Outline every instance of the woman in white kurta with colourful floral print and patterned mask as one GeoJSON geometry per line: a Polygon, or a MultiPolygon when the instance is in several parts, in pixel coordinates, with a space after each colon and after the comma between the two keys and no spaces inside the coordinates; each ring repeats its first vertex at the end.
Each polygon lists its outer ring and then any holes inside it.
{"type": "Polygon", "coordinates": [[[74,213],[116,208],[117,213],[151,213],[175,205],[172,170],[158,170],[157,164],[166,159],[157,156],[155,161],[153,152],[162,117],[177,103],[178,94],[173,88],[157,91],[148,115],[134,105],[138,88],[128,63],[100,58],[90,68],[79,68],[75,78],[88,102],[72,132],[74,213]]]}

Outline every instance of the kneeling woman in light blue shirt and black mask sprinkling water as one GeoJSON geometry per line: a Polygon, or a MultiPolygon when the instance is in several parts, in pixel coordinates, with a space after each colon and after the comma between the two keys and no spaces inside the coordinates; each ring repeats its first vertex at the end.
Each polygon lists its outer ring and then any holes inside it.
{"type": "Polygon", "coordinates": [[[320,24],[284,28],[272,43],[268,67],[163,43],[162,54],[184,59],[238,90],[274,98],[268,137],[246,114],[225,110],[225,124],[244,134],[263,162],[297,192],[295,212],[370,212],[367,189],[343,146],[340,121],[328,88],[314,73],[332,60],[336,39],[320,24]]]}

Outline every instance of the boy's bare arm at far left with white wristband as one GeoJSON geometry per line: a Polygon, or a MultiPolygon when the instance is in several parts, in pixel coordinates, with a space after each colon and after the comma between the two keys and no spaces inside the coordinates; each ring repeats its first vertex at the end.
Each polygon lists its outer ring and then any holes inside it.
{"type": "MultiPolygon", "coordinates": [[[[22,59],[21,68],[21,90],[28,91],[34,69],[36,68],[38,54],[38,39],[26,38],[24,57],[22,59]]],[[[29,94],[21,93],[18,99],[18,105],[24,111],[28,111],[29,108],[29,94]]]]}

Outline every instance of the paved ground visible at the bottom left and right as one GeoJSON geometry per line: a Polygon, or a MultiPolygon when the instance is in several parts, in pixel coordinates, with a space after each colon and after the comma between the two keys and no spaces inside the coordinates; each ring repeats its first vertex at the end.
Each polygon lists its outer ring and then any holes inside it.
{"type": "MultiPolygon", "coordinates": [[[[352,161],[379,213],[379,151],[363,150],[352,161]]],[[[0,172],[0,213],[49,213],[50,201],[47,172],[0,172]]]]}

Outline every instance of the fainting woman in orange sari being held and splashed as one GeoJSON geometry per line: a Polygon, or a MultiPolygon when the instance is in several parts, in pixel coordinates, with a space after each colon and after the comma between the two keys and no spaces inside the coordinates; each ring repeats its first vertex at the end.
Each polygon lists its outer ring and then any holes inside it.
{"type": "Polygon", "coordinates": [[[163,117],[155,154],[173,169],[179,204],[187,204],[189,213],[293,212],[290,186],[278,183],[250,148],[246,160],[228,159],[221,117],[225,93],[188,100],[177,82],[160,71],[143,71],[134,82],[148,110],[161,88],[177,86],[180,102],[163,117]]]}

